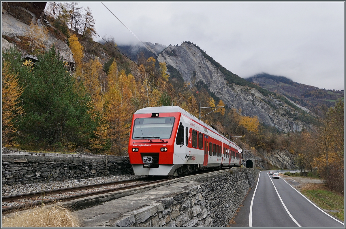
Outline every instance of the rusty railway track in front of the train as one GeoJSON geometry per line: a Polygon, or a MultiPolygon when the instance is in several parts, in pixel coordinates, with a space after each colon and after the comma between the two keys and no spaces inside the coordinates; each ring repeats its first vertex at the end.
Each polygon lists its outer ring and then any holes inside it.
{"type": "Polygon", "coordinates": [[[160,179],[160,180],[151,179],[150,181],[147,181],[147,180],[148,180],[148,178],[139,178],[139,179],[116,181],[116,182],[83,185],[83,186],[71,187],[71,188],[53,189],[53,190],[47,190],[47,191],[41,191],[41,192],[9,195],[9,196],[2,197],[2,201],[3,202],[17,202],[20,204],[16,205],[16,206],[12,206],[12,207],[3,206],[2,212],[3,213],[10,213],[10,212],[17,211],[19,209],[31,208],[34,206],[43,205],[43,204],[52,203],[52,202],[65,202],[65,201],[80,199],[80,198],[84,198],[84,197],[89,197],[92,195],[104,194],[104,193],[119,191],[119,190],[126,190],[126,189],[130,189],[130,188],[145,186],[148,184],[158,183],[161,181],[165,181],[167,179],[160,179]],[[126,186],[120,186],[120,187],[118,186],[121,184],[133,183],[133,182],[137,182],[137,183],[131,184],[131,185],[126,185],[126,186]],[[138,182],[142,182],[142,183],[138,183],[138,182]],[[93,189],[93,188],[100,188],[100,187],[113,186],[113,185],[116,185],[117,187],[113,187],[113,188],[109,188],[109,189],[101,189],[98,191],[90,191],[90,192],[85,192],[82,194],[73,194],[73,192],[79,192],[79,191],[83,191],[83,190],[89,190],[89,189],[93,189]],[[72,192],[72,194],[71,194],[71,192],[72,192]],[[66,193],[66,194],[68,193],[69,195],[65,195],[64,197],[54,198],[54,195],[62,194],[62,193],[66,193]],[[52,195],[53,195],[53,198],[52,198],[52,195]],[[20,201],[18,201],[18,200],[20,200],[20,201]],[[33,202],[29,202],[29,201],[33,201],[33,202]]]}

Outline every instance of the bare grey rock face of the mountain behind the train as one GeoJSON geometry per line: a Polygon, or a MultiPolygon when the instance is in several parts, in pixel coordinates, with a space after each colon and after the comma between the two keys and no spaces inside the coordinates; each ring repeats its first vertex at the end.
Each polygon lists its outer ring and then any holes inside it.
{"type": "Polygon", "coordinates": [[[185,82],[194,84],[202,80],[225,104],[237,110],[241,109],[243,115],[257,116],[260,122],[284,132],[301,131],[303,125],[307,125],[283,116],[282,113],[287,110],[296,112],[283,101],[273,96],[264,96],[255,88],[230,85],[225,75],[190,42],[183,42],[180,46],[168,46],[158,56],[158,60],[177,69],[185,82]]]}

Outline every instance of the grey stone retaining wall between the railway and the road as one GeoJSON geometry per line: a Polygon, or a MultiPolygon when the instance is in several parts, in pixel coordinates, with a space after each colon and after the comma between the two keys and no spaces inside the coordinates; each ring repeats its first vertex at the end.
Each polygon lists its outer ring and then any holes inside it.
{"type": "MultiPolygon", "coordinates": [[[[258,169],[232,169],[191,179],[185,191],[126,212],[113,227],[226,227],[255,184],[258,169]]],[[[167,188],[169,188],[167,186],[167,188]]]]}

